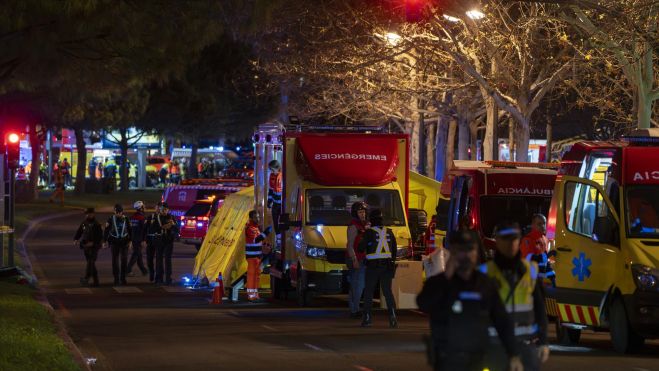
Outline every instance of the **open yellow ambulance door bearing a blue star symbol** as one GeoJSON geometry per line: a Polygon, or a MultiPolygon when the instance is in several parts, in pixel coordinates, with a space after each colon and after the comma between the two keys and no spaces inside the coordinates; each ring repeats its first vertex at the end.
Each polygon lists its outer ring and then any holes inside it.
{"type": "Polygon", "coordinates": [[[599,305],[615,281],[620,254],[619,218],[596,182],[557,182],[556,299],[564,322],[597,325],[599,305]]]}

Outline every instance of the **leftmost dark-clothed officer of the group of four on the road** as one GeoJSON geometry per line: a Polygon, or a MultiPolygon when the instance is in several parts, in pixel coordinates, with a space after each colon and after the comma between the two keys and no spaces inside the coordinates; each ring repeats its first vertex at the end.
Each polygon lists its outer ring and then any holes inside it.
{"type": "Polygon", "coordinates": [[[80,223],[80,227],[73,237],[74,245],[79,247],[85,253],[85,260],[87,261],[87,268],[85,269],[85,276],[80,278],[80,283],[84,286],[89,284],[92,279],[92,287],[98,287],[98,271],[96,270],[96,258],[98,257],[98,250],[101,248],[103,242],[103,228],[101,224],[96,221],[96,216],[93,208],[85,210],[85,220],[80,223]]]}

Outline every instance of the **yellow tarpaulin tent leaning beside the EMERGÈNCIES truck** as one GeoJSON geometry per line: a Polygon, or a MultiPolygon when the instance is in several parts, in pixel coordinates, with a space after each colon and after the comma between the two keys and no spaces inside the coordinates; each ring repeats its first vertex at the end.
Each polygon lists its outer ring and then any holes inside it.
{"type": "Polygon", "coordinates": [[[210,282],[222,273],[225,286],[233,285],[247,272],[245,224],[254,207],[254,187],[229,195],[208,227],[195,258],[194,274],[210,282]]]}

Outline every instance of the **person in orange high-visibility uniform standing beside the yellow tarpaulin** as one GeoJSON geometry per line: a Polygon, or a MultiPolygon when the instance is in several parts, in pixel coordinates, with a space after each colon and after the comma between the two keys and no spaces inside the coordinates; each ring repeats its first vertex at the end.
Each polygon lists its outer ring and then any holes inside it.
{"type": "Polygon", "coordinates": [[[261,232],[259,214],[256,210],[249,212],[249,221],[245,226],[245,259],[247,259],[247,299],[259,300],[259,276],[261,274],[261,257],[263,240],[270,234],[272,227],[261,232]]]}

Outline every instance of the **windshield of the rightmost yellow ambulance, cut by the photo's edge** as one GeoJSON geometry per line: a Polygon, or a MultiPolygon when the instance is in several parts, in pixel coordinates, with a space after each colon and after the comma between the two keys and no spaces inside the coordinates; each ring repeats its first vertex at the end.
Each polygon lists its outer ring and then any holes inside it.
{"type": "Polygon", "coordinates": [[[627,188],[627,235],[659,238],[659,185],[627,188]]]}

